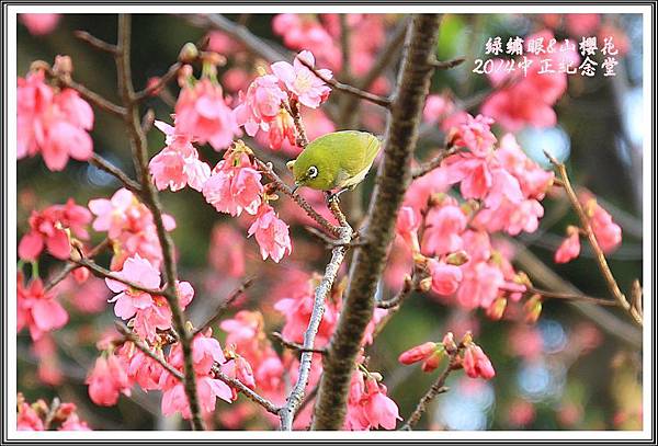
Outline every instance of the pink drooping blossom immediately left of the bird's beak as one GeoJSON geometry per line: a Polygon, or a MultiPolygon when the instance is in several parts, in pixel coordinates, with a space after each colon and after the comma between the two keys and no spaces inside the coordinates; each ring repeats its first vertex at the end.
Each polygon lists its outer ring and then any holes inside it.
{"type": "Polygon", "coordinates": [[[249,159],[247,146],[237,142],[215,165],[203,186],[203,196],[217,211],[239,216],[254,215],[262,202],[261,174],[249,159]]]}

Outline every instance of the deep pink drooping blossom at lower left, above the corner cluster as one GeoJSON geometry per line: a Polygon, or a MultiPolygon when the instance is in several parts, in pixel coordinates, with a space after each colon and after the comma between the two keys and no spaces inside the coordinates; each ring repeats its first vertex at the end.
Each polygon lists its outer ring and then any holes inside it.
{"type": "Polygon", "coordinates": [[[131,396],[131,382],[125,365],[114,355],[99,356],[86,384],[89,397],[98,405],[114,405],[118,394],[131,396]]]}

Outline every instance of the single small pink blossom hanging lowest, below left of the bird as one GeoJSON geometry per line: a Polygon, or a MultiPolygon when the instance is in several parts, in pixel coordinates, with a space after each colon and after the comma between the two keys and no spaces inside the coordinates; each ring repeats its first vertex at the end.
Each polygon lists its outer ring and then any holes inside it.
{"type": "Polygon", "coordinates": [[[263,260],[269,256],[276,263],[293,251],[288,227],[281,220],[272,206],[262,204],[256,220],[249,227],[249,237],[256,235],[263,260]]]}

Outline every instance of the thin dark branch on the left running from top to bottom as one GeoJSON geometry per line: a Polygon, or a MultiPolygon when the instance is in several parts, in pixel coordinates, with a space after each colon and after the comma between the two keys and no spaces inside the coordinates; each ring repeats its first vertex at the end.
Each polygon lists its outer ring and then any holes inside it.
{"type": "Polygon", "coordinates": [[[162,207],[148,172],[148,146],[146,135],[141,130],[139,119],[139,106],[135,99],[135,89],[131,72],[131,16],[129,14],[120,14],[118,16],[118,42],[116,55],[116,69],[118,78],[118,90],[122,95],[126,114],[124,116],[131,146],[136,161],[135,169],[141,179],[143,198],[145,205],[152,214],[156,225],[156,232],[160,247],[162,249],[162,263],[164,265],[164,278],[167,281],[166,294],[169,307],[171,308],[173,325],[179,334],[184,358],[184,388],[190,412],[192,414],[192,428],[203,430],[201,419],[201,408],[196,394],[196,375],[194,373],[194,363],[192,361],[192,336],[185,329],[185,319],[179,304],[175,283],[178,279],[177,265],[174,261],[173,242],[169,232],[164,229],[162,222],[162,207]]]}

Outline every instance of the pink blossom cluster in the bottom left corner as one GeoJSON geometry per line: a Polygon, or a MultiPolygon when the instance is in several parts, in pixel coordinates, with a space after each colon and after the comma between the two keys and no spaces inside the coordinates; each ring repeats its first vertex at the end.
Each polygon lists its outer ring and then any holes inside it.
{"type": "Polygon", "coordinates": [[[78,408],[72,402],[60,403],[54,413],[44,400],[30,404],[22,393],[18,394],[16,428],[19,431],[91,431],[87,423],[80,420],[78,408]]]}

